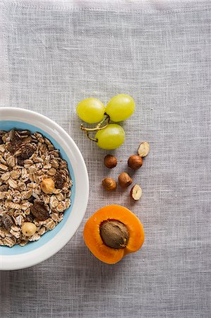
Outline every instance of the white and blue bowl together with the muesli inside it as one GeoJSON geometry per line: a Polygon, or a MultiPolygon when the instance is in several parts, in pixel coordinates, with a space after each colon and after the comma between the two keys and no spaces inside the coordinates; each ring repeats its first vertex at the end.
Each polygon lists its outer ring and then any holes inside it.
{"type": "Polygon", "coordinates": [[[73,237],[88,204],[88,172],[56,122],[0,108],[0,270],[48,259],[73,237]]]}

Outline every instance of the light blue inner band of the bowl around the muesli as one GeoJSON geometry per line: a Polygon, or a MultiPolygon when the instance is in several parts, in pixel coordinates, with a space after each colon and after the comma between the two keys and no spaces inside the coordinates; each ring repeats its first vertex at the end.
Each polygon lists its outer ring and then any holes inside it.
{"type": "Polygon", "coordinates": [[[35,131],[38,131],[41,134],[43,134],[45,137],[47,137],[47,139],[49,139],[49,141],[52,142],[54,147],[56,149],[59,149],[61,158],[66,160],[66,162],[68,163],[68,171],[70,172],[71,179],[73,181],[73,186],[71,187],[71,206],[66,209],[66,211],[64,212],[63,220],[61,220],[61,222],[58,225],[56,225],[56,227],[53,230],[49,230],[48,232],[44,233],[44,235],[40,237],[40,240],[35,242],[28,242],[28,244],[23,247],[20,247],[20,245],[14,245],[13,247],[0,246],[0,255],[18,255],[18,254],[31,252],[39,247],[42,247],[42,245],[45,245],[47,242],[52,240],[52,238],[61,230],[61,228],[63,228],[66,220],[68,219],[68,216],[70,216],[72,208],[73,208],[75,194],[76,194],[76,179],[73,173],[73,167],[71,166],[70,160],[68,159],[68,156],[66,155],[64,149],[59,145],[59,143],[57,143],[57,141],[54,138],[52,138],[52,136],[47,134],[46,131],[43,131],[37,126],[27,124],[25,122],[0,120],[0,130],[9,131],[11,129],[19,129],[19,130],[28,129],[32,133],[34,133],[35,131]]]}

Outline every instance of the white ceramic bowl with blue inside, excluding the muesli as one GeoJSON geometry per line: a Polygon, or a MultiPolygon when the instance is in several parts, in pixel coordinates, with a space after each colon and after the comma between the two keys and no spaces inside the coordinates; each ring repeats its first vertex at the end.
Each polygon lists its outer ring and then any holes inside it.
{"type": "Polygon", "coordinates": [[[20,247],[0,246],[0,270],[24,269],[52,257],[73,237],[88,204],[88,172],[76,143],[58,124],[30,110],[0,108],[0,130],[28,129],[40,131],[59,149],[68,163],[73,180],[71,206],[64,212],[64,219],[52,231],[46,232],[37,242],[20,247]]]}

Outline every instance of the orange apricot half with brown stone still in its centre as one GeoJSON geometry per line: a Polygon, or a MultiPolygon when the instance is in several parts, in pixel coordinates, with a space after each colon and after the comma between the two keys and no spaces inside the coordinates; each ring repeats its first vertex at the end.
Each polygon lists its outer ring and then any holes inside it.
{"type": "Polygon", "coordinates": [[[145,235],[142,223],[123,206],[104,206],[85,223],[85,245],[107,264],[115,264],[126,254],[138,251],[145,235]]]}

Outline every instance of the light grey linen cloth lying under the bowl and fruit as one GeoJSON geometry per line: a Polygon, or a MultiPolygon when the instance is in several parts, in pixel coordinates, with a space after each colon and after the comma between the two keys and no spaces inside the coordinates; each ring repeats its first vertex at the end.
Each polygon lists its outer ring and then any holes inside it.
{"type": "MultiPolygon", "coordinates": [[[[42,264],[1,272],[1,318],[210,317],[210,1],[0,1],[1,107],[54,119],[80,148],[90,177],[85,218],[42,264]],[[128,93],[135,114],[108,171],[79,130],[75,107],[128,93]],[[104,193],[140,141],[150,155],[131,175],[143,188],[104,193]],[[145,244],[114,266],[83,242],[85,220],[121,204],[145,244]]],[[[83,199],[83,193],[81,194],[83,199]]]]}

